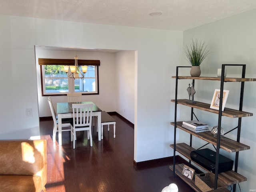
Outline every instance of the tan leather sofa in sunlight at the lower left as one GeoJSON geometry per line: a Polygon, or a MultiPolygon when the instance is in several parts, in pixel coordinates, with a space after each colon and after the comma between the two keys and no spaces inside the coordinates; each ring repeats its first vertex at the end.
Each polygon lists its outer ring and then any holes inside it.
{"type": "Polygon", "coordinates": [[[46,140],[0,141],[0,191],[46,192],[46,140]]]}

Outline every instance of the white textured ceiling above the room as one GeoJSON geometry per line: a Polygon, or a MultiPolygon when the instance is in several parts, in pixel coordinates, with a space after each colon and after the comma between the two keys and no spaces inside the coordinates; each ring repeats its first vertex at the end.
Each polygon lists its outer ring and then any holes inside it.
{"type": "Polygon", "coordinates": [[[187,30],[254,8],[256,0],[0,0],[3,15],[169,30],[187,30]]]}

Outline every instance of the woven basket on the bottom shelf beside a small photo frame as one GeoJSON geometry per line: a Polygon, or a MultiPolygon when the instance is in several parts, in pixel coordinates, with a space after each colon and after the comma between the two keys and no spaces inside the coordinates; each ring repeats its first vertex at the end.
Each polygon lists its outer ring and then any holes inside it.
{"type": "MultiPolygon", "coordinates": [[[[202,192],[214,190],[214,174],[196,174],[195,184],[202,192]]],[[[218,180],[217,188],[227,188],[227,186],[222,181],[218,180]]]]}

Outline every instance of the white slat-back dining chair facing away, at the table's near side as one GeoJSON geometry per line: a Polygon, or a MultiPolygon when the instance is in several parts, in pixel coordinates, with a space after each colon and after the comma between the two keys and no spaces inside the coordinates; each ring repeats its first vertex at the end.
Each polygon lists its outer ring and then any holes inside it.
{"type": "Polygon", "coordinates": [[[92,107],[93,104],[72,104],[73,123],[71,126],[71,141],[75,148],[76,132],[87,130],[87,139],[92,147],[92,107]]]}

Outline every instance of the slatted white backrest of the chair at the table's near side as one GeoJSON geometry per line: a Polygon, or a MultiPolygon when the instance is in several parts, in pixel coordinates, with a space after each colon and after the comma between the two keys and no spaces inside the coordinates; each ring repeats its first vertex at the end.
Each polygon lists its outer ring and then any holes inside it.
{"type": "Polygon", "coordinates": [[[93,104],[72,104],[74,127],[91,127],[92,107],[93,104]]]}

